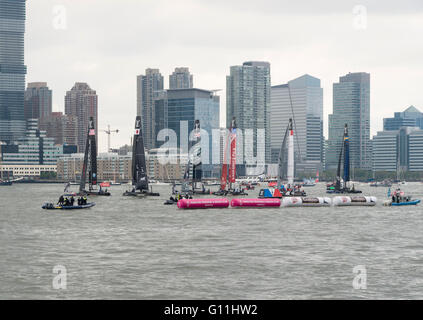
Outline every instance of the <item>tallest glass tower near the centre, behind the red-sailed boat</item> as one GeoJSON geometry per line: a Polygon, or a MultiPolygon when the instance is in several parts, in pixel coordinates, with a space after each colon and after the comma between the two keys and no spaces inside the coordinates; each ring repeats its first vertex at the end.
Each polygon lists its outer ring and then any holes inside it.
{"type": "MultiPolygon", "coordinates": [[[[256,160],[270,162],[269,114],[270,64],[250,61],[232,66],[226,77],[226,123],[229,128],[232,118],[236,117],[238,128],[243,132],[242,138],[238,138],[243,164],[255,167],[256,160]],[[248,135],[252,135],[252,139],[248,135]]],[[[239,169],[242,174],[242,167],[239,169]]]]}

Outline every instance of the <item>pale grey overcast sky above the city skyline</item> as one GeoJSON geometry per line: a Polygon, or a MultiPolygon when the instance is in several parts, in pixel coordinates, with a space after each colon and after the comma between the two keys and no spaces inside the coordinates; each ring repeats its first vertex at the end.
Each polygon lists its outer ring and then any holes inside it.
{"type": "Polygon", "coordinates": [[[54,111],[87,82],[99,95],[99,129],[120,130],[112,147],[130,142],[146,68],[160,69],[165,88],[187,66],[195,87],[223,89],[221,123],[229,67],[249,60],[271,63],[272,85],[321,79],[326,137],[332,84],[348,72],[371,74],[372,136],[395,111],[423,111],[421,0],[29,0],[26,27],[27,82],[48,83],[54,111]]]}

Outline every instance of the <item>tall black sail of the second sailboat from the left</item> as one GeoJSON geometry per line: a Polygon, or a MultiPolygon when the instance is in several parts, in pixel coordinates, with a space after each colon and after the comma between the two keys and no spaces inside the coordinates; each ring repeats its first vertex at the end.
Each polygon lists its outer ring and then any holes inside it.
{"type": "Polygon", "coordinates": [[[141,132],[141,117],[135,120],[132,146],[132,185],[136,190],[148,190],[147,167],[145,163],[144,140],[141,132]]]}

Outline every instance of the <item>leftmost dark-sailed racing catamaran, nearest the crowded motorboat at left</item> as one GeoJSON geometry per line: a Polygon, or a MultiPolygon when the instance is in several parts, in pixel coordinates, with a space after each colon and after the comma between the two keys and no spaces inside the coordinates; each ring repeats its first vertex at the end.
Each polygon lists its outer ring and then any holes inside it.
{"type": "Polygon", "coordinates": [[[84,163],[82,165],[81,181],[79,182],[80,195],[110,196],[110,192],[101,187],[97,189],[97,145],[95,138],[94,118],[88,123],[87,140],[85,143],[84,163]],[[88,171],[88,190],[85,190],[88,171]]]}

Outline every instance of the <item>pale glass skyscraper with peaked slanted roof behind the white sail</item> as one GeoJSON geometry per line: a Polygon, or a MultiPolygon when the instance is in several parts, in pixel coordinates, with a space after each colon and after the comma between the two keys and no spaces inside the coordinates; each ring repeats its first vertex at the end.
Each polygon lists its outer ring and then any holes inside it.
{"type": "Polygon", "coordinates": [[[289,118],[294,121],[296,168],[320,170],[323,163],[323,89],[320,80],[303,75],[271,90],[271,153],[278,162],[289,118]],[[292,105],[291,105],[292,104],[292,105]]]}

